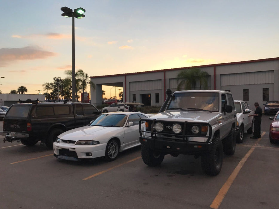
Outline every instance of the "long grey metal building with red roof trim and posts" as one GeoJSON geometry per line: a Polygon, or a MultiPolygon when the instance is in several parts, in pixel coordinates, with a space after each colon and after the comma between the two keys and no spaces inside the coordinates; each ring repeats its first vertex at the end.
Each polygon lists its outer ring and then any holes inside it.
{"type": "MultiPolygon", "coordinates": [[[[165,91],[176,91],[177,74],[183,69],[200,68],[209,74],[208,89],[228,90],[234,99],[250,104],[267,100],[279,100],[279,57],[242,62],[210,64],[194,67],[124,73],[107,76],[91,76],[96,90],[91,89],[91,103],[102,102],[102,85],[123,87],[124,102],[140,102],[161,106],[165,91]]],[[[195,89],[199,89],[199,83],[195,89]]],[[[253,105],[251,105],[253,107],[253,105]]]]}

